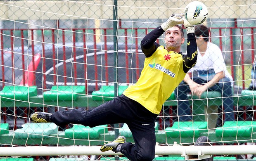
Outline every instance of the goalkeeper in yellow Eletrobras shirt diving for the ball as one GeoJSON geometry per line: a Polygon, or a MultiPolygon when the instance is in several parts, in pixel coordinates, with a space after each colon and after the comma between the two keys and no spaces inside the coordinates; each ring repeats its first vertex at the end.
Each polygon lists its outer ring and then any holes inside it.
{"type": "Polygon", "coordinates": [[[197,43],[194,26],[183,14],[173,14],[165,23],[148,33],[141,41],[145,54],[144,67],[137,83],[130,85],[121,96],[106,102],[92,111],[72,109],[53,114],[35,112],[33,122],[53,122],[56,125],[97,125],[127,123],[135,144],[119,136],[102,145],[101,151],[121,152],[131,161],[152,161],[155,156],[156,136],[154,124],[161,107],[197,61],[197,43]],[[187,30],[187,54],[180,52],[185,42],[183,28],[187,30]],[[165,33],[165,47],[155,41],[165,33]]]}

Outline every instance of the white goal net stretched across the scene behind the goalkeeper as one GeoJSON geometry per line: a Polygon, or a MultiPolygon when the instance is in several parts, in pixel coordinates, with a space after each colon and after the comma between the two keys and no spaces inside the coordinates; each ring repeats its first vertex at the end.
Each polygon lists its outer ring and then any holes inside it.
{"type": "MultiPolygon", "coordinates": [[[[142,38],[171,14],[184,12],[189,2],[0,1],[1,159],[127,160],[119,153],[100,152],[102,144],[119,135],[133,142],[125,123],[59,127],[31,123],[29,116],[35,111],[91,110],[121,95],[142,71],[142,38]]],[[[206,90],[200,98],[184,93],[189,102],[185,117],[191,120],[182,121],[178,104],[183,100],[177,100],[174,92],[156,119],[155,160],[185,160],[190,155],[197,155],[197,160],[209,155],[253,159],[256,4],[250,0],[201,2],[209,11],[204,22],[209,41],[220,48],[232,77],[232,95],[223,95],[225,88],[206,90]],[[227,98],[233,101],[233,111],[225,111],[227,98]],[[230,113],[234,119],[224,123],[230,113]],[[194,145],[201,136],[209,140],[203,140],[200,145],[205,147],[200,149],[194,145]]],[[[164,35],[157,43],[165,46],[164,35]]],[[[208,76],[211,70],[207,71],[208,76]]]]}

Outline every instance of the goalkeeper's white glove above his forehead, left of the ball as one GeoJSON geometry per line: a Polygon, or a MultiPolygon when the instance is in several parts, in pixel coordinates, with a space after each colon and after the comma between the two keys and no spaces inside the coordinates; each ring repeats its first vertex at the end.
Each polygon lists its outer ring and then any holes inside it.
{"type": "Polygon", "coordinates": [[[182,24],[183,23],[183,13],[178,13],[178,14],[172,14],[171,17],[169,17],[169,19],[164,22],[163,24],[161,24],[161,28],[163,28],[164,31],[166,31],[169,27],[173,27],[175,25],[178,24],[182,24]]]}

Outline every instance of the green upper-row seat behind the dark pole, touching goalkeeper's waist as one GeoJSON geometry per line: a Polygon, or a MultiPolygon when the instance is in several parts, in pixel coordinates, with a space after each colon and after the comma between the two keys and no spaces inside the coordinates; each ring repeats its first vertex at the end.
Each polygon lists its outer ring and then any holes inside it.
{"type": "MultiPolygon", "coordinates": [[[[128,88],[128,85],[119,85],[118,86],[118,95],[120,96],[124,90],[128,88]]],[[[96,90],[92,92],[93,100],[105,100],[110,101],[114,98],[115,90],[114,85],[102,85],[100,90],[96,90]]]]}

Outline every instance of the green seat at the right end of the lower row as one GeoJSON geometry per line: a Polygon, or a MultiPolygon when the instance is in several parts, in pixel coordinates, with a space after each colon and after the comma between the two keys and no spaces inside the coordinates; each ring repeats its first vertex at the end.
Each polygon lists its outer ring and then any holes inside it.
{"type": "Polygon", "coordinates": [[[256,132],[256,121],[225,121],[215,130],[217,137],[251,137],[256,132]]]}

